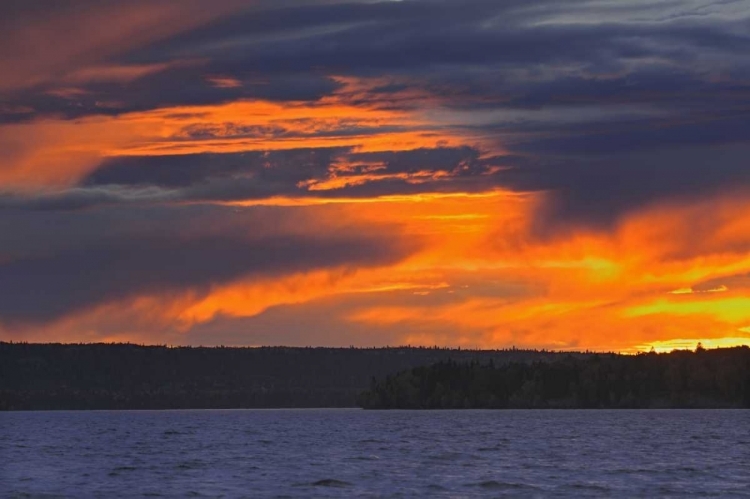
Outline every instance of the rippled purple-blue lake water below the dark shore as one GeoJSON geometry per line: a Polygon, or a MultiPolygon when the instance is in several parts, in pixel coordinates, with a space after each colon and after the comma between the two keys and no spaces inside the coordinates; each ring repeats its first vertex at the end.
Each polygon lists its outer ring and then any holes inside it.
{"type": "Polygon", "coordinates": [[[750,497],[750,411],[0,413],[2,497],[750,497]]]}

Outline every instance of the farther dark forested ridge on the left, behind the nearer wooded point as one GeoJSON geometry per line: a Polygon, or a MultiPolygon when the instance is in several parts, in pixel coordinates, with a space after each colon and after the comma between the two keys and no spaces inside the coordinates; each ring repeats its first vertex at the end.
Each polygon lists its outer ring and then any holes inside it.
{"type": "Polygon", "coordinates": [[[355,407],[373,376],[441,360],[560,354],[441,348],[168,348],[0,342],[0,409],[355,407]]]}

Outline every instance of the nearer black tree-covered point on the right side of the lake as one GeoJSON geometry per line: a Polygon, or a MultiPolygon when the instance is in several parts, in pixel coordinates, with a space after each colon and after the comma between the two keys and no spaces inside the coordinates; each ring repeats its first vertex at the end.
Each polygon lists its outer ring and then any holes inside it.
{"type": "Polygon", "coordinates": [[[442,361],[373,380],[367,409],[750,407],[750,348],[442,361]]]}

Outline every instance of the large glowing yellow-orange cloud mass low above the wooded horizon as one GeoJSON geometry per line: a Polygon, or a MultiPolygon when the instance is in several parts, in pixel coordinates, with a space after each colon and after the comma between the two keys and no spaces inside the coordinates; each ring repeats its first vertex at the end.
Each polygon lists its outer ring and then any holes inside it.
{"type": "MultiPolygon", "coordinates": [[[[714,209],[706,223],[714,229],[704,233],[711,240],[696,248],[683,244],[691,241],[689,217],[705,209],[700,204],[653,207],[611,233],[579,231],[537,240],[530,227],[542,197],[494,191],[326,204],[306,200],[288,209],[308,210],[310,220],[322,226],[367,230],[395,224],[403,237],[419,238],[422,249],[388,267],[237,281],[201,295],[109,304],[48,326],[45,337],[99,330],[143,341],[145,333],[132,332],[140,324],[155,337],[179,343],[185,333],[217,318],[327,303],[336,304],[336,320],[354,336],[368,326],[411,344],[635,352],[694,347],[698,341],[750,341],[748,290],[670,294],[707,278],[750,272],[750,240],[736,222],[738,213],[750,216],[749,203],[707,201],[714,209]],[[741,243],[747,243],[744,252],[741,243]]],[[[316,226],[305,230],[315,232],[316,226]]],[[[315,338],[307,341],[314,344],[315,338]]],[[[362,341],[378,339],[371,335],[357,343],[362,341]]]]}

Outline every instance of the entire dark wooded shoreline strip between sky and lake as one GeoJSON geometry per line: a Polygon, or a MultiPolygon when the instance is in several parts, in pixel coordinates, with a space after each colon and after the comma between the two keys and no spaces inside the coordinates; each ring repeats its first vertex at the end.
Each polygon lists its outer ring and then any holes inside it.
{"type": "Polygon", "coordinates": [[[0,410],[732,409],[750,407],[749,373],[747,347],[632,356],[0,342],[0,410]],[[434,371],[446,366],[436,395],[434,371]],[[500,378],[482,385],[490,375],[500,378]]]}

